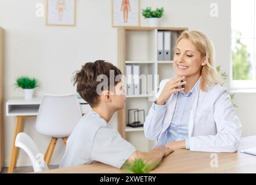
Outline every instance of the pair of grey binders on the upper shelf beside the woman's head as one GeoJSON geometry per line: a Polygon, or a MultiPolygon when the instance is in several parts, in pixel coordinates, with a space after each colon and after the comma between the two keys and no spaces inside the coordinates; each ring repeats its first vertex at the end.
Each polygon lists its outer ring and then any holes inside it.
{"type": "Polygon", "coordinates": [[[157,32],[157,60],[171,61],[171,31],[157,32]]]}

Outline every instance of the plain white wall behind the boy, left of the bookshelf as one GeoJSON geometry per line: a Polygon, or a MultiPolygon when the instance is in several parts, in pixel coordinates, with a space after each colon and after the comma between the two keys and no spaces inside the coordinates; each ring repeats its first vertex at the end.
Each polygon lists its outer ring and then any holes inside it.
{"type": "MultiPolygon", "coordinates": [[[[117,29],[111,28],[111,1],[77,1],[76,27],[46,27],[35,16],[35,5],[44,0],[1,0],[0,25],[5,29],[5,101],[22,97],[14,88],[20,75],[35,76],[41,82],[36,95],[75,92],[73,72],[85,61],[104,59],[117,64],[117,29]]],[[[46,151],[51,138],[37,134],[35,119],[28,119],[24,132],[46,151]]],[[[117,123],[117,114],[111,124],[117,123]]],[[[116,126],[116,125],[115,125],[116,126]]],[[[5,166],[9,165],[15,117],[5,118],[5,166]]],[[[63,156],[62,140],[57,143],[52,164],[63,156]]],[[[30,165],[21,151],[17,165],[30,165]]]]}

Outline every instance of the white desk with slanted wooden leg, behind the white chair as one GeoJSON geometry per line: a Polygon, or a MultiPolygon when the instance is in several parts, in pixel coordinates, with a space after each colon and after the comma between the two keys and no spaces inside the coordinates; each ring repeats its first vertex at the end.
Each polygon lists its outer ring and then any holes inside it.
{"type": "MultiPolygon", "coordinates": [[[[91,110],[91,107],[83,99],[78,99],[78,101],[81,106],[82,114],[85,114],[91,110]]],[[[9,99],[6,102],[6,116],[16,116],[16,126],[13,134],[8,173],[12,173],[13,168],[16,168],[19,148],[15,147],[15,139],[17,134],[23,131],[23,120],[29,117],[37,116],[41,102],[42,98],[33,98],[27,100],[9,99]]]]}

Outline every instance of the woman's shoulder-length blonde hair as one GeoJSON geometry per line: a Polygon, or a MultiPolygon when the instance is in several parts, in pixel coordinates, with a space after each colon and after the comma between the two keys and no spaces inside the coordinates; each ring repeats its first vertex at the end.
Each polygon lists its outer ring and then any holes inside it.
{"type": "Polygon", "coordinates": [[[214,84],[222,84],[222,77],[214,66],[214,46],[212,45],[211,39],[199,31],[183,31],[177,39],[176,45],[178,45],[181,39],[189,39],[196,46],[201,57],[205,57],[206,65],[201,66],[201,90],[207,91],[214,84]]]}

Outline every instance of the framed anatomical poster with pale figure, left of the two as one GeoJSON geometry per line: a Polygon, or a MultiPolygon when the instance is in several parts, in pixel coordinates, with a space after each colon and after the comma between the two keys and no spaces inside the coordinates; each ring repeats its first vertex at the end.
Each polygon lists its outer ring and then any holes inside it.
{"type": "Polygon", "coordinates": [[[76,0],[46,0],[46,25],[75,26],[76,0]]]}

